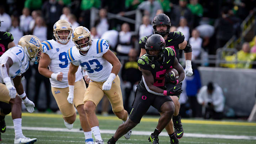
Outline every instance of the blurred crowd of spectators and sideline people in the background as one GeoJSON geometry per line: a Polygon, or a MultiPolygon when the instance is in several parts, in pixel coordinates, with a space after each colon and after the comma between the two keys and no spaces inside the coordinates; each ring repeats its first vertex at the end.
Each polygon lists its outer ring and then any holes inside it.
{"type": "MultiPolygon", "coordinates": [[[[59,19],[69,21],[73,29],[78,26],[87,27],[91,31],[92,39],[106,39],[118,57],[124,56],[121,75],[125,90],[123,95],[126,95],[124,107],[129,111],[130,93],[141,79],[136,63],[140,53],[138,41],[143,36],[153,34],[151,21],[155,15],[165,13],[170,17],[171,31],[180,31],[185,35],[185,40],[192,46],[193,62],[193,60],[202,59],[202,52],[205,55],[215,55],[216,50],[222,48],[232,36],[239,37],[240,25],[249,14],[255,11],[255,4],[256,0],[4,0],[0,4],[0,20],[3,21],[0,31],[10,32],[17,44],[18,40],[26,34],[37,36],[41,42],[52,39],[53,25],[59,19]],[[90,21],[91,16],[94,16],[91,14],[92,7],[99,10],[96,21],[93,22],[94,25],[91,25],[90,21]],[[135,31],[132,23],[108,17],[108,13],[111,13],[135,20],[135,15],[126,15],[126,12],[132,10],[140,10],[143,16],[138,31],[135,31]]],[[[232,61],[237,57],[242,61],[255,61],[256,36],[251,39],[251,42],[242,43],[238,50],[240,51],[237,55],[229,55],[225,59],[232,61]]],[[[181,104],[185,107],[182,114],[185,117],[202,117],[201,111],[198,111],[202,109],[202,103],[197,97],[201,89],[197,66],[193,64],[194,74],[186,78],[186,86],[183,86],[182,94],[185,95],[183,96],[185,99],[181,104]]],[[[223,66],[256,68],[250,63],[247,65],[246,63],[223,64],[223,66]]],[[[38,73],[37,65],[30,66],[30,70],[27,71],[25,75],[27,84],[32,78],[32,73],[37,78],[34,100],[32,99],[37,107],[40,84],[43,82],[49,92],[50,84],[48,78],[38,73]]],[[[208,85],[208,88],[213,91],[214,87],[217,86],[208,85]]],[[[50,97],[50,94],[47,93],[47,97],[50,97]]],[[[223,101],[221,104],[224,103],[223,101]]],[[[50,102],[47,103],[48,106],[41,111],[50,108],[50,102]]],[[[211,102],[207,105],[210,107],[211,102]]],[[[217,112],[223,112],[223,108],[217,112]]],[[[204,117],[209,116],[204,115],[204,117]]]]}

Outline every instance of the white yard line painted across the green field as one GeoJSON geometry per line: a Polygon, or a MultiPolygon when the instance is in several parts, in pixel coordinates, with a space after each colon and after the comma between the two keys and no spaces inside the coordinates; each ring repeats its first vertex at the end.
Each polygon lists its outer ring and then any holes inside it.
{"type": "MultiPolygon", "coordinates": [[[[7,126],[7,128],[14,128],[13,126],[7,126]]],[[[38,131],[50,131],[50,132],[82,132],[79,129],[66,129],[66,128],[50,128],[50,127],[22,127],[23,130],[38,130],[38,131]]],[[[114,134],[116,130],[101,129],[102,134],[114,134]]],[[[149,131],[132,131],[132,135],[150,135],[152,132],[149,131]]],[[[160,133],[160,136],[168,136],[166,132],[160,133]]],[[[216,138],[216,139],[246,139],[256,140],[255,136],[247,135],[220,135],[220,134],[198,134],[198,133],[184,133],[183,137],[192,138],[216,138]]]]}

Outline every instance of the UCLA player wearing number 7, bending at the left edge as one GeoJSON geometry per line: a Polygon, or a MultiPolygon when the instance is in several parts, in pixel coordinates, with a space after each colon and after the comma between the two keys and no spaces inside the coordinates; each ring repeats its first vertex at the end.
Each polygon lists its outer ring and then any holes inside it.
{"type": "MultiPolygon", "coordinates": [[[[36,138],[25,137],[21,129],[21,102],[25,104],[28,112],[34,112],[34,103],[27,98],[23,90],[21,74],[27,71],[30,61],[38,63],[41,52],[40,40],[36,36],[26,35],[20,39],[18,46],[8,49],[0,57],[0,101],[10,103],[12,107],[14,144],[33,144],[37,141],[36,138]]],[[[10,112],[3,111],[3,113],[10,112]]]]}

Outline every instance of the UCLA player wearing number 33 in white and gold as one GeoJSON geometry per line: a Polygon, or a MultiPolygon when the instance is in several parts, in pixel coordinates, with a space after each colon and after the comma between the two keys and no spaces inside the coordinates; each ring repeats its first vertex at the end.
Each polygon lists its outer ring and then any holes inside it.
{"type": "MultiPolygon", "coordinates": [[[[72,102],[73,91],[76,79],[76,71],[79,66],[87,71],[91,81],[84,96],[84,110],[92,133],[97,144],[103,144],[100,135],[99,122],[95,114],[95,108],[106,94],[110,100],[114,114],[125,122],[128,113],[123,108],[123,98],[120,87],[118,72],[121,63],[116,55],[109,49],[108,42],[104,39],[91,39],[90,31],[82,26],[75,28],[73,32],[73,42],[75,46],[68,50],[69,66],[68,100],[72,102]]],[[[129,139],[132,131],[129,131],[125,138],[129,139]]]]}

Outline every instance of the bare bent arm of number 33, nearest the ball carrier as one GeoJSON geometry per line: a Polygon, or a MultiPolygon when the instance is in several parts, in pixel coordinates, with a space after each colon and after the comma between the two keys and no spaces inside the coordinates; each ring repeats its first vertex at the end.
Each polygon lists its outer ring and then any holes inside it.
{"type": "Polygon", "coordinates": [[[105,54],[103,54],[102,57],[113,65],[111,73],[117,75],[119,73],[119,70],[121,69],[121,63],[116,57],[116,55],[113,52],[111,52],[111,50],[108,50],[105,54]]]}

